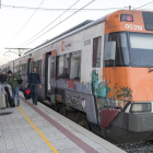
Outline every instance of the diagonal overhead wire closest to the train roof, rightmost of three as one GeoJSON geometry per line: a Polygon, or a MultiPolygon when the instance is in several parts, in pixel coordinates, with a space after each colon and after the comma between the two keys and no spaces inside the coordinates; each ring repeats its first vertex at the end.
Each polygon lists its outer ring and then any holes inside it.
{"type": "MultiPolygon", "coordinates": [[[[93,3],[95,0],[92,0],[91,2],[89,2],[87,4],[85,4],[84,7],[82,7],[81,9],[79,9],[78,11],[75,11],[74,13],[72,13],[71,15],[69,15],[68,17],[66,17],[64,20],[62,20],[61,22],[59,22],[58,24],[56,24],[55,26],[52,26],[51,28],[49,28],[48,31],[46,31],[45,33],[43,33],[40,36],[36,37],[34,40],[30,42],[28,44],[26,44],[25,46],[32,44],[33,42],[35,42],[36,39],[38,39],[39,37],[42,37],[43,35],[45,35],[46,33],[48,33],[49,31],[51,31],[52,28],[55,28],[56,26],[60,25],[61,23],[63,23],[64,21],[67,21],[68,19],[70,19],[71,16],[73,16],[74,14],[76,14],[78,12],[80,12],[82,9],[86,8],[87,5],[90,5],[91,3],[93,3]]],[[[24,47],[25,47],[24,46],[24,47]]]]}

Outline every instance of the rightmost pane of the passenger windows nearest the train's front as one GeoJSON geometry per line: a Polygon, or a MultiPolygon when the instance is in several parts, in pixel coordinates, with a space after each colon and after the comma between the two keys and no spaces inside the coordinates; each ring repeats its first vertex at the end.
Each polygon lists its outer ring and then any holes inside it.
{"type": "Polygon", "coordinates": [[[75,51],[71,54],[70,79],[80,80],[80,73],[81,73],[81,51],[75,51]]]}

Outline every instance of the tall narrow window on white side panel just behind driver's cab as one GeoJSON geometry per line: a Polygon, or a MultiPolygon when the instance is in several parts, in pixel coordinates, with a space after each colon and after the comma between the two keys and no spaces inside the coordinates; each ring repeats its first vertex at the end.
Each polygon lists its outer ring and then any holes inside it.
{"type": "Polygon", "coordinates": [[[93,39],[93,68],[101,67],[102,37],[93,39]]]}

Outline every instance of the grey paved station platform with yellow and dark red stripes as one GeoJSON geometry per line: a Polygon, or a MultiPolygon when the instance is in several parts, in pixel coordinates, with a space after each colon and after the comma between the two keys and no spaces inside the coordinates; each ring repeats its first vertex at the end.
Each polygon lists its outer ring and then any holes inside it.
{"type": "Polygon", "coordinates": [[[0,153],[125,153],[42,103],[0,109],[0,153]]]}

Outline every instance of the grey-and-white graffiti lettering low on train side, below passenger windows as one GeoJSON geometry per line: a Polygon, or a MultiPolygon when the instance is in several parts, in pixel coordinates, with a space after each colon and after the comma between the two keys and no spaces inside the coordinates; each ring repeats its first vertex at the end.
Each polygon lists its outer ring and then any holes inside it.
{"type": "Polygon", "coordinates": [[[79,110],[84,110],[85,108],[85,98],[80,98],[80,96],[72,96],[72,95],[66,95],[66,104],[68,106],[74,107],[79,110]]]}

